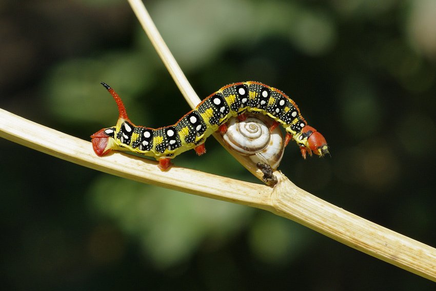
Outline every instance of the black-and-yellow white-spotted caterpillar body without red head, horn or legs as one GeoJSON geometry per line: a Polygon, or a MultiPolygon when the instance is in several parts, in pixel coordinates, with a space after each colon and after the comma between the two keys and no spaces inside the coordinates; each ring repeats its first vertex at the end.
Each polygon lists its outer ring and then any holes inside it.
{"type": "Polygon", "coordinates": [[[301,134],[307,123],[294,101],[280,90],[255,81],[221,88],[171,126],[152,129],[120,119],[105,133],[113,137],[109,144],[113,150],[156,159],[174,158],[204,143],[229,118],[244,112],[269,116],[282,124],[300,146],[307,147],[307,137],[301,134]]]}

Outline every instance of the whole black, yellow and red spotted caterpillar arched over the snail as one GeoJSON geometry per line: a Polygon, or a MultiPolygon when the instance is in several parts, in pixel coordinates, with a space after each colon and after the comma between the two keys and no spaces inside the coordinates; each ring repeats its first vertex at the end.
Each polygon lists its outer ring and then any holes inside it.
{"type": "Polygon", "coordinates": [[[215,131],[226,133],[226,121],[240,120],[245,113],[262,113],[274,120],[270,131],[279,124],[285,128],[285,146],[294,139],[303,158],[307,153],[320,157],[329,153],[323,135],[309,126],[298,106],[282,91],[261,82],[246,81],[224,86],[205,98],[197,107],[175,124],[162,128],[135,126],[127,116],[120,96],[107,84],[101,83],[115,99],[118,121],[115,126],[101,129],[93,135],[92,148],[98,156],[111,150],[131,151],[158,160],[162,171],[168,170],[171,159],[194,149],[197,155],[206,153],[204,142],[215,131]]]}

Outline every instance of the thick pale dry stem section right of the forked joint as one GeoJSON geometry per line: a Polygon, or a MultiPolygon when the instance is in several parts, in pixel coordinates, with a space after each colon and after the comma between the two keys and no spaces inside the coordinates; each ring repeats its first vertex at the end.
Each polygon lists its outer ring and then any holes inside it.
{"type": "Polygon", "coordinates": [[[273,213],[385,262],[436,281],[436,249],[354,215],[279,176],[273,213]]]}

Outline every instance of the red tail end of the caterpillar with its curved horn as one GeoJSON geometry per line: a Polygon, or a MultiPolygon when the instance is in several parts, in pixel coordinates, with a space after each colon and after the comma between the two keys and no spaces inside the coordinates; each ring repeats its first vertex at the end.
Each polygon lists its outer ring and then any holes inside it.
{"type": "MultiPolygon", "coordinates": [[[[120,128],[121,123],[123,123],[125,120],[129,120],[123,101],[121,100],[120,96],[118,96],[118,94],[116,94],[116,92],[109,87],[109,85],[104,82],[102,82],[101,84],[115,99],[119,113],[117,127],[120,128]]],[[[108,154],[112,149],[118,148],[115,142],[115,129],[116,127],[104,128],[91,135],[92,149],[94,150],[95,154],[97,154],[97,156],[104,156],[108,154]]]]}

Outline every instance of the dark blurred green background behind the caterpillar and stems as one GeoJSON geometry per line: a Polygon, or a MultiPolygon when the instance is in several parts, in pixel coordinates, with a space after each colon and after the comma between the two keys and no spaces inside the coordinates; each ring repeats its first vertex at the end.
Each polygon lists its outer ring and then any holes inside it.
{"type": "MultiPolygon", "coordinates": [[[[436,2],[155,0],[156,26],[206,97],[286,92],[331,158],[287,148],[301,188],[436,246],[436,2]]],[[[0,108],[89,140],[189,108],[123,0],[0,2],[0,108]]],[[[255,181],[213,138],[175,163],[255,181]]],[[[246,206],[96,172],[0,139],[0,284],[16,290],[434,290],[434,283],[246,206]]]]}

